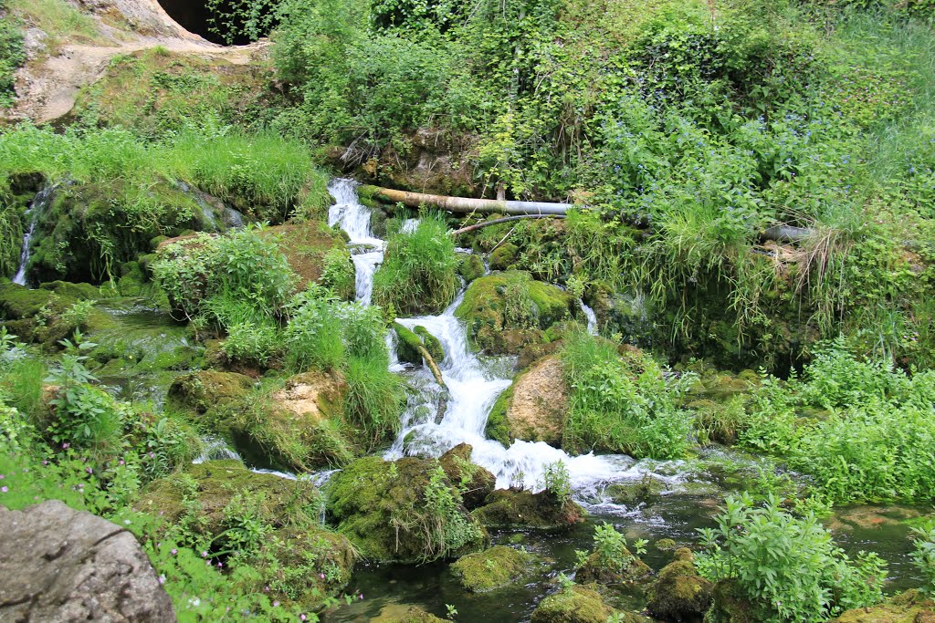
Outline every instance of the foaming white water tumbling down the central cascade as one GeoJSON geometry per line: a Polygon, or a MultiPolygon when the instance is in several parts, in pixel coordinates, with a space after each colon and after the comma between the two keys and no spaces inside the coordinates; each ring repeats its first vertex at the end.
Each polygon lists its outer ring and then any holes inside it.
{"type": "MultiPolygon", "coordinates": [[[[375,238],[370,229],[370,209],[357,200],[355,183],[348,179],[336,179],[329,191],[338,202],[329,214],[328,222],[339,225],[351,237],[352,248],[362,245],[375,250],[354,256],[357,267],[357,300],[369,304],[373,273],[382,261],[384,243],[375,238]]],[[[406,221],[404,231],[412,231],[417,223],[406,221]]],[[[387,459],[404,455],[439,457],[446,450],[461,443],[473,446],[471,459],[496,475],[497,487],[522,484],[525,488],[541,488],[544,468],[549,463],[562,460],[568,467],[572,487],[579,497],[595,498],[597,491],[613,481],[632,480],[643,474],[653,474],[657,463],[635,461],[624,455],[586,454],[568,456],[564,451],[545,443],[517,441],[505,447],[499,442],[484,437],[487,417],[500,393],[510,387],[511,361],[507,358],[482,359],[471,352],[468,336],[454,310],[461,303],[463,292],[439,316],[397,319],[410,329],[421,325],[437,338],[444,348],[445,357],[439,368],[449,389],[447,407],[439,423],[436,423],[440,389],[434,378],[424,368],[408,370],[400,365],[395,354],[391,357],[391,370],[410,377],[413,385],[421,388],[402,418],[402,431],[396,443],[387,451],[387,459]]],[[[588,317],[589,329],[596,330],[594,312],[583,305],[588,317]],[[592,324],[593,322],[593,324],[592,324]]],[[[389,346],[394,346],[391,339],[389,346]]],[[[667,479],[662,474],[654,477],[667,479]]],[[[597,498],[599,499],[599,494],[597,498]]]]}

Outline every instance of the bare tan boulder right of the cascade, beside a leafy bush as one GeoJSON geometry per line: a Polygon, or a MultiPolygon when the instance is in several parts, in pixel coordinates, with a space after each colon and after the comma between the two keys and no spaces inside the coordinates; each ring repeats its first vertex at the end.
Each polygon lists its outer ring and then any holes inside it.
{"type": "Polygon", "coordinates": [[[505,404],[496,405],[487,426],[501,443],[521,439],[561,447],[569,392],[562,361],[555,355],[543,357],[516,377],[505,392],[505,404]],[[503,418],[502,424],[498,418],[503,418]],[[501,428],[506,439],[499,438],[501,428]]]}

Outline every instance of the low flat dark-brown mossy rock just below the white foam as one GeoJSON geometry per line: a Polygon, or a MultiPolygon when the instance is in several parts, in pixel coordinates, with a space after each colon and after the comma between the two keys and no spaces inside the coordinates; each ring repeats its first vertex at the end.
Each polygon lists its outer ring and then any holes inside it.
{"type": "Polygon", "coordinates": [[[568,501],[559,503],[548,491],[530,493],[515,488],[496,489],[471,515],[485,528],[568,529],[584,520],[584,509],[568,501]]]}

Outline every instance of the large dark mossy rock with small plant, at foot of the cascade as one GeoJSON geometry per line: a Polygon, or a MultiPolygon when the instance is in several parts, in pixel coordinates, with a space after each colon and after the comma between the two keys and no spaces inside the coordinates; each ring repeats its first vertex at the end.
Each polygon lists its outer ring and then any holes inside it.
{"type": "MultiPolygon", "coordinates": [[[[439,518],[425,501],[437,469],[437,460],[355,460],[328,482],[328,512],[366,559],[414,563],[476,551],[486,532],[462,506],[439,518]]],[[[440,484],[457,498],[447,477],[440,484]]]]}

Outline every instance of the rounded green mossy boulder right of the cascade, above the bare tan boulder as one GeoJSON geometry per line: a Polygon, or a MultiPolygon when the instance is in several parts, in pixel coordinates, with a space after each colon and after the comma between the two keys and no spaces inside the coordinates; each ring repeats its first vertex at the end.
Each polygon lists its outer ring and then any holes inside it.
{"type": "Polygon", "coordinates": [[[474,347],[515,354],[542,341],[544,330],[572,317],[575,309],[568,292],[510,271],[473,281],[454,315],[467,325],[474,347]]]}

